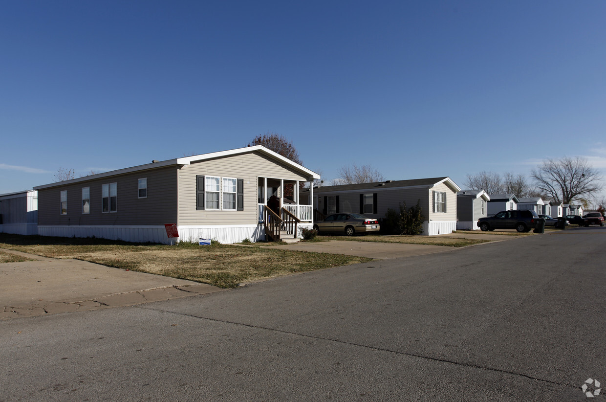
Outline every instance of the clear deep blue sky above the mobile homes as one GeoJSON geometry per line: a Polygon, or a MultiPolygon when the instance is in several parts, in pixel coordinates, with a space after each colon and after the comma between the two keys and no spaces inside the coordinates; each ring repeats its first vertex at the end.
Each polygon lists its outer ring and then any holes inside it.
{"type": "Polygon", "coordinates": [[[269,131],[327,181],[606,168],[604,0],[0,7],[0,193],[269,131]]]}

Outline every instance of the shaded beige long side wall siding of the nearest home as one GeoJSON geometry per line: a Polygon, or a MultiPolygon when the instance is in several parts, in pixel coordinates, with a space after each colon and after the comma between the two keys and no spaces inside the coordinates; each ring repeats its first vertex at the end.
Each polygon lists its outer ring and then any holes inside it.
{"type": "Polygon", "coordinates": [[[39,225],[159,225],[176,223],[176,167],[165,167],[38,190],[39,225]],[[147,198],[138,198],[139,178],[147,178],[147,198]],[[117,212],[101,212],[101,185],[117,183],[117,212]],[[82,213],[82,187],[90,187],[90,213],[82,213]],[[67,190],[67,215],[60,214],[67,190]]]}

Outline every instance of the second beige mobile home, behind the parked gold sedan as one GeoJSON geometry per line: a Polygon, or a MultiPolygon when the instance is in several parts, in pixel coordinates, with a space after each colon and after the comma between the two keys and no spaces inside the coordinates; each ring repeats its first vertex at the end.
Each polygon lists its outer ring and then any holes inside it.
{"type": "Polygon", "coordinates": [[[438,235],[456,230],[458,191],[450,178],[437,177],[317,187],[312,199],[323,215],[359,212],[375,219],[384,218],[387,209],[399,211],[402,202],[410,208],[419,201],[425,216],[422,234],[438,235]]]}

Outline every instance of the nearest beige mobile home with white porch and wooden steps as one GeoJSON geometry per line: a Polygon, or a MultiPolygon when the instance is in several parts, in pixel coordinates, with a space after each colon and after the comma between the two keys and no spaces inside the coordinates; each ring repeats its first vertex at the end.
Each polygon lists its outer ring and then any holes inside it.
{"type": "Polygon", "coordinates": [[[176,224],[180,241],[279,240],[279,231],[267,232],[268,222],[292,221],[295,236],[311,227],[311,205],[295,200],[300,183],[318,178],[263,146],[153,161],[35,187],[38,230],[169,243],[164,224],[176,224]],[[275,211],[267,208],[270,199],[275,211]]]}

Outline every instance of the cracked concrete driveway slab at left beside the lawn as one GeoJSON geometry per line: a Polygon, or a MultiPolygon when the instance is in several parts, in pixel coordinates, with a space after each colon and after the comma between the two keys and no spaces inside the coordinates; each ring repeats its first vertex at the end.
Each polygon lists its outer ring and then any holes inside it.
{"type": "Polygon", "coordinates": [[[35,261],[0,264],[0,320],[133,306],[222,290],[208,284],[86,261],[2,251],[35,261]]]}

